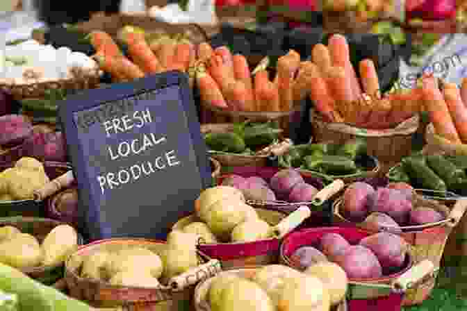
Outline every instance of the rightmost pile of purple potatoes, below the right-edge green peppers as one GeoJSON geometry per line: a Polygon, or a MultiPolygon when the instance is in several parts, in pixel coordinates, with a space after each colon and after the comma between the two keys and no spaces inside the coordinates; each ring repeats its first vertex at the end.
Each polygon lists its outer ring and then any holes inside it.
{"type": "Polygon", "coordinates": [[[390,183],[375,189],[368,183],[352,183],[343,194],[341,214],[362,223],[368,230],[400,233],[401,226],[431,224],[446,218],[445,210],[413,204],[413,188],[407,183],[390,183]]]}

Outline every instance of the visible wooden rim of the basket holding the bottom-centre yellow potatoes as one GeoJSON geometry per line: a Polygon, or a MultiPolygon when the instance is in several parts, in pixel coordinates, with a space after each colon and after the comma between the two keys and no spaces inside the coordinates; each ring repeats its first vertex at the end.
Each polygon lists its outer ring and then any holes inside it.
{"type": "MultiPolygon", "coordinates": [[[[199,283],[196,288],[195,288],[195,298],[194,304],[195,304],[195,310],[196,311],[211,311],[211,307],[209,306],[207,295],[209,288],[211,286],[211,283],[215,278],[222,277],[222,274],[238,274],[238,276],[241,276],[243,278],[248,278],[252,279],[254,278],[254,275],[256,274],[256,271],[259,269],[257,268],[245,268],[245,269],[229,269],[227,271],[222,271],[218,276],[215,276],[213,278],[208,278],[207,280],[204,280],[203,282],[199,283]]],[[[336,307],[331,308],[330,311],[347,311],[347,304],[345,301],[342,301],[336,307]]]]}

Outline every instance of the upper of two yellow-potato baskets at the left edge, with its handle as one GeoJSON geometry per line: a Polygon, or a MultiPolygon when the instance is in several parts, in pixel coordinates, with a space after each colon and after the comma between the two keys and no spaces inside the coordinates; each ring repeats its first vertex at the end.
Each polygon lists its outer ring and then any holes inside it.
{"type": "Polygon", "coordinates": [[[70,169],[64,162],[40,162],[28,157],[1,162],[0,217],[44,217],[44,202],[34,200],[34,192],[70,169]]]}

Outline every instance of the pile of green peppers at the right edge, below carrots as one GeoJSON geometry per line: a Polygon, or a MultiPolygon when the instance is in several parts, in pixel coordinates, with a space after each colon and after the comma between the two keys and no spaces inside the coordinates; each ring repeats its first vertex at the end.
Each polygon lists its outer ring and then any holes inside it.
{"type": "Polygon", "coordinates": [[[465,195],[467,189],[467,157],[456,155],[421,155],[403,158],[393,167],[388,177],[391,181],[404,182],[414,187],[465,195]]]}

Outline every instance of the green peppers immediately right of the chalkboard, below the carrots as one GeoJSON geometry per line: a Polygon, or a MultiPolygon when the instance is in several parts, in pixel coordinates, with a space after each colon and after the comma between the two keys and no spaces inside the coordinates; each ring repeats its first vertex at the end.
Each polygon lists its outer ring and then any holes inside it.
{"type": "Polygon", "coordinates": [[[279,140],[279,124],[275,121],[236,123],[229,133],[208,133],[204,142],[211,151],[254,155],[254,152],[279,140]]]}

